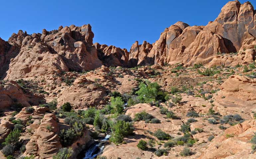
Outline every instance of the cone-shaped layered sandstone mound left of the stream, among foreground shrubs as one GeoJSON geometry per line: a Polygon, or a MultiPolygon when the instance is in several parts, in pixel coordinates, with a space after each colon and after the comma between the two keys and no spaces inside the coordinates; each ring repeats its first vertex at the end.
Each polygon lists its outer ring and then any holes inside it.
{"type": "Polygon", "coordinates": [[[42,159],[53,157],[62,147],[58,132],[59,128],[55,115],[46,114],[39,128],[27,143],[25,154],[34,154],[42,159]]]}

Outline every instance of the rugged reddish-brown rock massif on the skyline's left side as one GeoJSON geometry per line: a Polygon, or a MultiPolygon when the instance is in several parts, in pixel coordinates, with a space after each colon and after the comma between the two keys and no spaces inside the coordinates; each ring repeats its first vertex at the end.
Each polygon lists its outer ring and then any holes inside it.
{"type": "MultiPolygon", "coordinates": [[[[18,56],[11,59],[5,79],[19,79],[66,71],[92,70],[102,65],[92,45],[90,25],[59,27],[59,30],[28,35],[22,30],[8,42],[18,45],[18,56]]],[[[1,55],[1,54],[0,54],[1,55]]]]}

